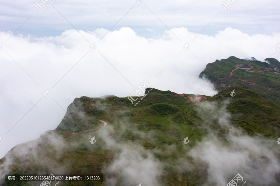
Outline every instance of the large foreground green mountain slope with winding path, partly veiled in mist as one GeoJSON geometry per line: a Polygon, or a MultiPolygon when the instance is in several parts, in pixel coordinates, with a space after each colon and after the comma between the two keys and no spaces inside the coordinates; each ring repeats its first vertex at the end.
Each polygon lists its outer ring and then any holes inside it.
{"type": "MultiPolygon", "coordinates": [[[[191,102],[189,97],[196,98],[195,95],[153,88],[136,107],[127,98],[115,96],[75,98],[54,131],[42,134],[34,142],[14,147],[0,159],[0,170],[3,171],[3,164],[9,161],[6,174],[103,174],[104,167],[114,163],[120,153],[117,147],[105,145],[114,141],[115,146],[133,143],[135,148],[142,146],[151,151],[162,165],[161,185],[203,185],[207,183],[207,166],[201,164],[193,171],[179,171],[178,159],[194,161],[185,154],[209,133],[209,129],[216,131],[221,141],[227,143],[227,129],[218,125],[218,118],[212,117],[223,111],[224,106],[232,115],[232,125],[249,135],[260,134],[268,139],[280,136],[280,106],[258,93],[231,86],[213,97],[204,96],[207,99],[197,103],[191,102]],[[236,96],[231,98],[229,94],[233,89],[236,96]],[[210,103],[215,109],[203,110],[202,105],[207,108],[210,103]],[[105,134],[106,138],[101,138],[105,134]],[[90,139],[94,136],[96,143],[92,145],[90,139]],[[187,136],[190,141],[184,146],[183,139],[187,136]],[[31,144],[35,145],[32,147],[31,144]],[[17,151],[21,148],[29,148],[30,153],[21,154],[17,151]]],[[[108,176],[109,173],[104,175],[103,182],[65,182],[60,185],[108,185],[108,176]]],[[[116,185],[120,183],[121,177],[116,180],[116,185]]],[[[33,184],[39,185],[40,182],[2,182],[5,186],[33,184]]]]}

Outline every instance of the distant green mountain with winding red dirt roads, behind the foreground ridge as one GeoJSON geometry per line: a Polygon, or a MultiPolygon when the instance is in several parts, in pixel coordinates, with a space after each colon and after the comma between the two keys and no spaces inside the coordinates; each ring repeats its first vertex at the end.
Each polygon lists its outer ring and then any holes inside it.
{"type": "Polygon", "coordinates": [[[251,61],[236,57],[216,60],[207,64],[199,77],[205,76],[218,90],[239,85],[280,105],[280,62],[273,58],[266,61],[269,64],[255,58],[251,61]]]}

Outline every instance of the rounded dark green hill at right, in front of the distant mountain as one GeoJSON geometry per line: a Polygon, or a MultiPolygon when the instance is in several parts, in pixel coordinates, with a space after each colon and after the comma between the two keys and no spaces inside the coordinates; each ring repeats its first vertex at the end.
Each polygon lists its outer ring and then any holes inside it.
{"type": "Polygon", "coordinates": [[[239,86],[231,86],[208,100],[222,101],[234,89],[236,96],[226,107],[233,116],[231,122],[251,135],[259,133],[268,137],[279,136],[280,106],[258,93],[239,86]]]}

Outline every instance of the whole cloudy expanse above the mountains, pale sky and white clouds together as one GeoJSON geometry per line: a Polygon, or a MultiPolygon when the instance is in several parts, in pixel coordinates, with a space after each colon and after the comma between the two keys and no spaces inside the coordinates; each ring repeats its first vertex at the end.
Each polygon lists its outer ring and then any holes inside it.
{"type": "Polygon", "coordinates": [[[213,95],[198,78],[206,64],[230,56],[280,60],[276,0],[225,1],[226,10],[209,0],[45,2],[38,10],[36,1],[1,1],[0,158],[55,129],[76,97],[126,97],[144,80],[213,95]]]}

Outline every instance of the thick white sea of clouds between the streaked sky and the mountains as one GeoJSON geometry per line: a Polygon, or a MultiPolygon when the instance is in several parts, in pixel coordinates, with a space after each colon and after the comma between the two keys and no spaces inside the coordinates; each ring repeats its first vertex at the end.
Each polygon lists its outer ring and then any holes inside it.
{"type": "MultiPolygon", "coordinates": [[[[263,61],[277,50],[266,34],[250,36],[232,28],[215,36],[198,35],[184,27],[172,29],[183,42],[171,31],[154,39],[138,36],[129,27],[79,32],[70,29],[60,36],[42,38],[14,34],[2,43],[1,157],[8,151],[4,144],[12,148],[55,129],[65,114],[63,109],[75,97],[125,97],[143,80],[160,90],[212,95],[216,93],[213,85],[198,78],[204,64],[229,56],[263,61]],[[92,43],[94,51],[90,50],[92,43]],[[183,49],[186,43],[188,51],[183,49]],[[49,97],[44,98],[47,89],[49,97]]],[[[1,32],[0,40],[11,34],[1,32]]],[[[280,41],[279,33],[272,36],[280,41]]],[[[280,59],[280,52],[272,57],[280,59]]]]}

